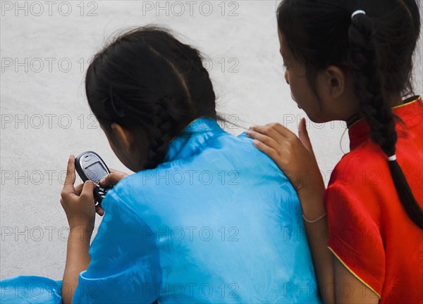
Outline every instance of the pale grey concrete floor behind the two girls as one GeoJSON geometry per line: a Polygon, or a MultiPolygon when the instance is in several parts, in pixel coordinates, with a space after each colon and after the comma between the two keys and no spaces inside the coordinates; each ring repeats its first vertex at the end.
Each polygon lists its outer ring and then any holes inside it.
{"type": "MultiPolygon", "coordinates": [[[[87,62],[116,30],[171,27],[210,58],[220,113],[244,127],[278,121],[296,132],[305,113],[283,79],[278,1],[194,2],[1,1],[1,279],[61,279],[68,224],[59,196],[70,153],[97,151],[109,167],[128,172],[90,115],[84,93],[87,62]]],[[[420,40],[417,94],[423,91],[422,49],[420,40]]],[[[309,129],[326,183],[348,152],[344,130],[341,122],[309,129]]]]}

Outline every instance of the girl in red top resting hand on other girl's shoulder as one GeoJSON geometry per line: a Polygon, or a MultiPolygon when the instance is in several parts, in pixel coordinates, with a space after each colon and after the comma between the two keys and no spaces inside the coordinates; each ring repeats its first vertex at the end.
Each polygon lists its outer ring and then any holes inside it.
{"type": "Polygon", "coordinates": [[[304,119],[299,137],[279,124],[247,132],[298,192],[325,303],[423,303],[423,101],[411,78],[419,33],[415,0],[278,7],[293,99],[314,122],[344,120],[350,136],[324,189],[304,119]]]}

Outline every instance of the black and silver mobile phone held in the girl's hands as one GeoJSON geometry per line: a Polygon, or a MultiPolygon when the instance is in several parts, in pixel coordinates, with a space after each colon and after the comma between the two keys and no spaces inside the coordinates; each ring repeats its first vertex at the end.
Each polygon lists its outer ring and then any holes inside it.
{"type": "Polygon", "coordinates": [[[104,160],[93,151],[80,153],[80,155],[75,158],[75,169],[82,181],[85,182],[90,179],[97,184],[94,188],[94,198],[98,203],[102,203],[107,191],[112,188],[99,185],[100,180],[110,173],[104,160]]]}

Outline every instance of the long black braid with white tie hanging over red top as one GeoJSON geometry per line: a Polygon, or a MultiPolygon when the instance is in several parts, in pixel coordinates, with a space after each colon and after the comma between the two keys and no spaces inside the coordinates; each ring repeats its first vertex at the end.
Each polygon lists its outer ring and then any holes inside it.
{"type": "MultiPolygon", "coordinates": [[[[395,120],[385,92],[382,53],[377,41],[377,29],[367,15],[353,18],[348,30],[350,52],[348,61],[355,79],[355,92],[361,101],[361,111],[370,127],[370,137],[386,156],[396,152],[398,135],[395,120]]],[[[407,215],[423,229],[423,211],[412,194],[403,170],[396,160],[388,162],[393,183],[407,215]]]]}

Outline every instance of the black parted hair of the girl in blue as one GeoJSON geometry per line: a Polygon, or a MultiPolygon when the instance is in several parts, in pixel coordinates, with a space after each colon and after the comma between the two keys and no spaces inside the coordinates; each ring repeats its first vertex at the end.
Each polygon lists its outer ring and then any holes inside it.
{"type": "Polygon", "coordinates": [[[216,96],[197,49],[166,29],[137,27],[94,56],[85,78],[97,120],[143,129],[149,138],[144,169],[157,167],[173,137],[196,118],[216,115],[216,96]]]}

